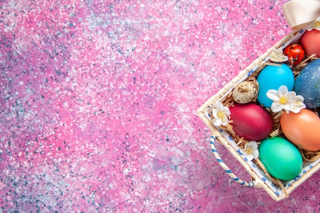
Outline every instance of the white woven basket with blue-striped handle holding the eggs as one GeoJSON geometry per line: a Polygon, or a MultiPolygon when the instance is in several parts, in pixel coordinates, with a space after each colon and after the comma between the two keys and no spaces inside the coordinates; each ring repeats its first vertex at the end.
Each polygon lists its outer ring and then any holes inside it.
{"type": "Polygon", "coordinates": [[[231,82],[226,84],[218,93],[214,94],[208,101],[206,101],[198,110],[197,114],[200,119],[209,127],[212,131],[211,137],[211,149],[217,158],[221,167],[225,170],[225,172],[230,175],[235,181],[240,183],[241,185],[247,187],[258,187],[264,188],[264,190],[268,193],[268,195],[276,200],[280,201],[295,190],[295,188],[299,187],[304,181],[306,181],[312,174],[317,172],[320,169],[320,159],[317,159],[312,162],[307,162],[304,164],[303,171],[301,174],[295,179],[288,181],[281,181],[280,184],[275,184],[272,182],[270,178],[268,178],[268,174],[266,174],[259,165],[257,165],[254,161],[246,161],[243,157],[242,150],[238,147],[237,138],[232,136],[230,132],[225,129],[220,129],[215,127],[210,120],[210,110],[215,105],[215,103],[224,100],[228,94],[230,94],[234,88],[234,86],[248,77],[255,75],[257,76],[257,72],[259,72],[269,61],[271,50],[285,48],[287,45],[291,43],[296,43],[302,34],[305,32],[305,29],[292,31],[284,38],[282,38],[278,43],[272,46],[266,53],[257,58],[254,62],[252,62],[249,66],[247,66],[240,74],[235,77],[231,82]],[[234,175],[230,169],[224,164],[223,160],[220,158],[215,146],[216,141],[224,145],[228,151],[243,165],[244,169],[250,174],[251,179],[249,182],[242,181],[236,175],[234,175]]]}

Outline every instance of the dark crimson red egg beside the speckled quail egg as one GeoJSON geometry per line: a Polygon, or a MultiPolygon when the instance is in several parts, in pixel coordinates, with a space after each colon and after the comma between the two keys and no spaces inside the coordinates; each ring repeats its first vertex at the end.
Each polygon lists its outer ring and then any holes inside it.
{"type": "Polygon", "coordinates": [[[273,128],[270,114],[254,103],[238,104],[229,107],[231,126],[237,135],[248,140],[266,138],[273,128]]]}

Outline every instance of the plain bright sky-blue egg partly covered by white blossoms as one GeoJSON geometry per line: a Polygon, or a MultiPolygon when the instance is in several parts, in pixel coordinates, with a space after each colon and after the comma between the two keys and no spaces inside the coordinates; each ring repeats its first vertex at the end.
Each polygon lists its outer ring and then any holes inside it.
{"type": "Polygon", "coordinates": [[[269,89],[278,90],[280,86],[287,86],[288,90],[293,90],[294,76],[292,70],[286,64],[281,66],[267,65],[265,66],[258,78],[259,91],[257,100],[264,107],[271,108],[272,100],[267,97],[269,89]]]}

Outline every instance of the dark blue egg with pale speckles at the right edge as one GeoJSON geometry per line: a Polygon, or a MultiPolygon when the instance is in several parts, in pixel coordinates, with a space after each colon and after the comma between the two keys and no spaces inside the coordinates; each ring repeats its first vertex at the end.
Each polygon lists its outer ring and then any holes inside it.
{"type": "Polygon", "coordinates": [[[295,79],[294,91],[305,99],[308,108],[320,106],[320,59],[308,63],[295,79]]]}

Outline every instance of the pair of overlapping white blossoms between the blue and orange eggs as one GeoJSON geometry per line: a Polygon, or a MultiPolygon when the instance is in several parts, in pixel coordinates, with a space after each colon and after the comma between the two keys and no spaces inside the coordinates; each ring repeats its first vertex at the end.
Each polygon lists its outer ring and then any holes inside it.
{"type": "Polygon", "coordinates": [[[280,112],[284,109],[287,113],[289,111],[298,113],[300,109],[306,108],[306,105],[303,103],[304,98],[300,95],[296,96],[294,91],[288,91],[285,85],[280,86],[278,91],[276,89],[269,89],[267,97],[273,101],[271,104],[272,112],[280,112]]]}

